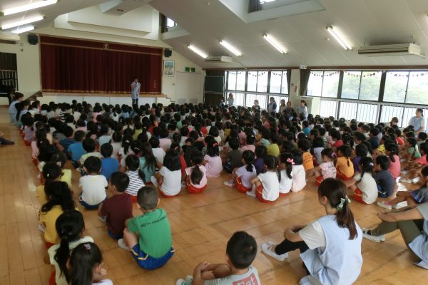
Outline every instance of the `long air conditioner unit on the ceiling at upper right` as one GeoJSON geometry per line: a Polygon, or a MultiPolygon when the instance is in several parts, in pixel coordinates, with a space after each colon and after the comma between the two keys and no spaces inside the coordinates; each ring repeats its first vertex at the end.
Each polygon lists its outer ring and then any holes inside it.
{"type": "Polygon", "coordinates": [[[361,46],[358,54],[364,56],[422,56],[421,46],[414,43],[398,43],[381,46],[361,46]]]}

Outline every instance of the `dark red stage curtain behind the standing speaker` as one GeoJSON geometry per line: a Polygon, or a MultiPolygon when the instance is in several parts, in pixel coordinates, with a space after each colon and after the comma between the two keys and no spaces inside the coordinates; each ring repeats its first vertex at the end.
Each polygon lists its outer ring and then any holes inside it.
{"type": "Polygon", "coordinates": [[[162,48],[71,38],[40,37],[41,87],[45,92],[161,93],[162,48]]]}

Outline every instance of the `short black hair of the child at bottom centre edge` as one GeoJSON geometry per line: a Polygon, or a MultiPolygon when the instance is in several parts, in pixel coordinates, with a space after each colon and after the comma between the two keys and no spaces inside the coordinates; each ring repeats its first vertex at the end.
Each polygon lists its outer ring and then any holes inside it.
{"type": "Polygon", "coordinates": [[[246,232],[235,232],[228,241],[226,254],[237,269],[246,269],[257,255],[257,242],[246,232]]]}

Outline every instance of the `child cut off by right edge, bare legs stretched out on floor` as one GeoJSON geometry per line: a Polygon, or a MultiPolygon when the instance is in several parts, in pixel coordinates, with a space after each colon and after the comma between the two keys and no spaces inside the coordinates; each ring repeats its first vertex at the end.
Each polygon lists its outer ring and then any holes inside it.
{"type": "Polygon", "coordinates": [[[407,205],[411,206],[414,204],[423,204],[428,202],[428,166],[422,168],[421,171],[424,180],[424,185],[419,187],[417,190],[412,191],[399,191],[397,197],[387,202],[377,202],[377,206],[385,209],[397,209],[397,204],[407,201],[407,205]]]}

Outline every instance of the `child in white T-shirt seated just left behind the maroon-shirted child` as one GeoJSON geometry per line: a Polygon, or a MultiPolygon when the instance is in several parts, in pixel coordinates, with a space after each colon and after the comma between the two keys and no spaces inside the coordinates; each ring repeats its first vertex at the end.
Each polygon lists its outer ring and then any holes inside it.
{"type": "Polygon", "coordinates": [[[82,192],[79,202],[86,209],[98,209],[98,205],[106,199],[106,188],[108,182],[101,172],[101,160],[98,157],[88,157],[83,169],[88,175],[82,176],[79,185],[82,192]]]}

